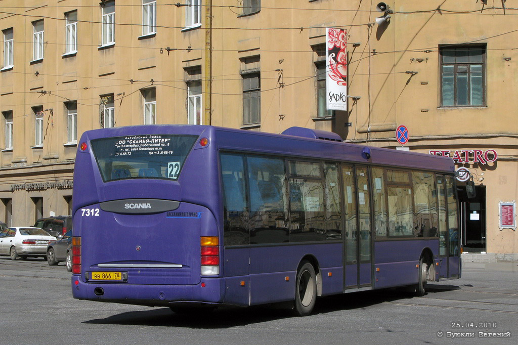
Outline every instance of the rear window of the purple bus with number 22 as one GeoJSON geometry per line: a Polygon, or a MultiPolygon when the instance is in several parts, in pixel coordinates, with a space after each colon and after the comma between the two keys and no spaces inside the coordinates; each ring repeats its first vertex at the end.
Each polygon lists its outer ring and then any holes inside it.
{"type": "Polygon", "coordinates": [[[193,135],[127,135],[95,139],[91,147],[104,182],[176,180],[196,139],[193,135]]]}

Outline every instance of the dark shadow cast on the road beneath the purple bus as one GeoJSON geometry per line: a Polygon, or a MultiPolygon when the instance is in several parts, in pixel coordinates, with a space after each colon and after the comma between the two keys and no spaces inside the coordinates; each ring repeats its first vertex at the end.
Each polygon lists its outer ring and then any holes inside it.
{"type": "MultiPolygon", "coordinates": [[[[429,293],[437,294],[459,290],[455,285],[429,285],[429,293]]],[[[326,314],[339,310],[366,308],[389,301],[419,298],[401,290],[377,290],[326,296],[316,301],[313,314],[326,314]]],[[[174,326],[188,328],[229,328],[249,324],[281,320],[293,317],[287,308],[276,306],[253,306],[248,308],[220,307],[214,311],[199,310],[194,313],[174,313],[169,308],[155,308],[146,311],[131,311],[112,315],[104,319],[83,321],[88,324],[116,324],[140,326],[174,326]]]]}

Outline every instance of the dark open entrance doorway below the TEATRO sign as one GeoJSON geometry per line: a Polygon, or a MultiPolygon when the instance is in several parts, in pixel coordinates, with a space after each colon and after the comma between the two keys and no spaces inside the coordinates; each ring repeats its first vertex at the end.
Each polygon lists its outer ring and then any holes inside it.
{"type": "Polygon", "coordinates": [[[475,186],[476,196],[468,199],[466,186],[458,186],[461,201],[461,233],[465,252],[486,250],[486,186],[475,186]]]}

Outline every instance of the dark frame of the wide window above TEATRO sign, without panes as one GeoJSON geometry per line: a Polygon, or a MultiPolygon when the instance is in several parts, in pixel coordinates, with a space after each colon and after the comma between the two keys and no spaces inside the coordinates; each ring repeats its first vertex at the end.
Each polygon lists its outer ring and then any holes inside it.
{"type": "MultiPolygon", "coordinates": [[[[456,56],[454,55],[454,59],[456,60],[456,56]]],[[[487,106],[487,102],[486,102],[486,93],[487,93],[487,85],[486,85],[486,68],[487,68],[487,46],[486,45],[459,45],[459,46],[454,46],[454,45],[447,45],[447,46],[439,46],[439,84],[440,84],[440,108],[469,108],[469,107],[486,107],[487,106]],[[463,62],[444,62],[444,57],[446,56],[445,55],[445,52],[451,52],[451,51],[457,51],[459,49],[467,49],[468,50],[468,56],[467,56],[467,59],[468,61],[463,61],[463,62]],[[482,51],[482,56],[481,56],[481,60],[482,61],[473,61],[473,62],[470,62],[469,61],[469,51],[477,51],[477,50],[481,50],[482,51]],[[472,66],[475,66],[475,65],[481,65],[481,94],[482,94],[482,104],[472,104],[473,100],[471,99],[471,91],[472,91],[472,82],[471,82],[471,78],[472,78],[472,74],[474,73],[479,73],[479,71],[471,71],[471,68],[472,66]],[[446,72],[444,72],[444,66],[453,66],[454,70],[453,70],[453,105],[445,105],[444,104],[444,75],[446,74],[446,72]],[[465,66],[467,67],[467,71],[459,71],[459,67],[460,66],[465,66]],[[469,102],[468,104],[458,104],[458,98],[457,98],[457,94],[458,94],[458,75],[461,74],[461,73],[466,73],[467,74],[467,90],[466,90],[466,93],[468,95],[468,97],[470,98],[469,99],[469,102]]]]}

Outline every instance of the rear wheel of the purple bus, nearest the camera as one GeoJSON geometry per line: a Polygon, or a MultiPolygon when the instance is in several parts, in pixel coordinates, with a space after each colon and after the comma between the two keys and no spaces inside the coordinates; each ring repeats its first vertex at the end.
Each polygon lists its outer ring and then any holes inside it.
{"type": "Polygon", "coordinates": [[[313,265],[303,262],[297,271],[295,281],[295,315],[311,314],[316,301],[316,275],[313,265]]]}

